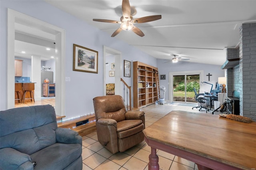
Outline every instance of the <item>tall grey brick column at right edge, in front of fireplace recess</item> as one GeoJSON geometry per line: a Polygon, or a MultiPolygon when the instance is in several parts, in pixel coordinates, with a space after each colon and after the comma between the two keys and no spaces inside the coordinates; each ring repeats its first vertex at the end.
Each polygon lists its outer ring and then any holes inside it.
{"type": "Polygon", "coordinates": [[[240,114],[256,121],[256,23],[240,28],[240,114]],[[242,72],[242,73],[241,73],[242,72]]]}

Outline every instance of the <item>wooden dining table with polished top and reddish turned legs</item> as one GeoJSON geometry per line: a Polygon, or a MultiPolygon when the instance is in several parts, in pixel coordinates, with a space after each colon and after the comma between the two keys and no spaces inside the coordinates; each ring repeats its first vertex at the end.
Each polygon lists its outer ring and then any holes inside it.
{"type": "Polygon", "coordinates": [[[159,170],[156,149],[195,162],[198,170],[256,168],[256,122],[171,111],[143,132],[151,147],[149,170],[159,170]]]}

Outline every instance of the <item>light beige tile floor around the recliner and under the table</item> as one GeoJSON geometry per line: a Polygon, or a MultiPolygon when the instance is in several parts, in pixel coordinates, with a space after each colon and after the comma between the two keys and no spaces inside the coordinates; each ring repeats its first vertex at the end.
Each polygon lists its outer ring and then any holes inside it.
{"type": "MultiPolygon", "coordinates": [[[[164,105],[149,105],[140,110],[145,112],[146,128],[173,110],[212,114],[204,110],[192,109],[193,106],[196,104],[165,103],[164,105]]],[[[92,132],[82,138],[83,170],[148,170],[148,156],[151,148],[145,141],[124,152],[112,154],[98,142],[97,132],[92,132]]],[[[196,164],[189,160],[162,150],[157,150],[157,154],[161,170],[198,170],[196,164]]]]}

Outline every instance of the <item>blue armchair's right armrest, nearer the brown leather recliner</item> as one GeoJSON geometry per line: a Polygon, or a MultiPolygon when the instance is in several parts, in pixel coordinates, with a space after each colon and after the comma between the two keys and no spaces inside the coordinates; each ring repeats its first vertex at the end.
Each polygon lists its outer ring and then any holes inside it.
{"type": "Polygon", "coordinates": [[[57,128],[56,140],[61,143],[78,143],[82,145],[82,136],[78,135],[78,132],[68,128],[57,128]]]}

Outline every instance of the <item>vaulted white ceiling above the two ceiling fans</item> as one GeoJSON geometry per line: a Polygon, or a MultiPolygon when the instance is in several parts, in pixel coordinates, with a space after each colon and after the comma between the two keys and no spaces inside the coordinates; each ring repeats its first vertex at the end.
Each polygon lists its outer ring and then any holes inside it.
{"type": "MultiPolygon", "coordinates": [[[[122,0],[45,0],[84,20],[109,36],[119,24],[92,19],[120,20],[122,0]]],[[[226,48],[239,46],[242,23],[256,22],[254,0],[130,0],[134,18],[162,15],[162,19],[136,24],[145,36],[122,31],[118,38],[158,59],[170,54],[188,62],[222,65],[226,48]]],[[[86,28],[85,28],[86,29],[86,28]]]]}

